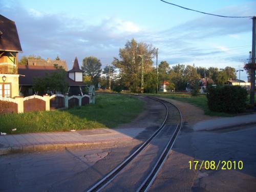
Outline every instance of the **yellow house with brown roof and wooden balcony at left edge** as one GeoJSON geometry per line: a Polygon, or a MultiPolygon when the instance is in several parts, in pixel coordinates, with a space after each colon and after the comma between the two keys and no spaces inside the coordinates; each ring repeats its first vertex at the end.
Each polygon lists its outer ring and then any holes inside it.
{"type": "Polygon", "coordinates": [[[15,22],[0,14],[0,97],[19,96],[19,52],[22,47],[15,22]]]}

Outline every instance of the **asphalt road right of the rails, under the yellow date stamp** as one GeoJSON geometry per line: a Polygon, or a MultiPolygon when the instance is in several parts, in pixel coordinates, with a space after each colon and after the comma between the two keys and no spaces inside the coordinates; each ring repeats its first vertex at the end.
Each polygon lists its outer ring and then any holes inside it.
{"type": "Polygon", "coordinates": [[[255,191],[256,125],[194,132],[185,124],[150,191],[255,191]],[[190,170],[189,161],[243,161],[243,169],[190,170]]]}

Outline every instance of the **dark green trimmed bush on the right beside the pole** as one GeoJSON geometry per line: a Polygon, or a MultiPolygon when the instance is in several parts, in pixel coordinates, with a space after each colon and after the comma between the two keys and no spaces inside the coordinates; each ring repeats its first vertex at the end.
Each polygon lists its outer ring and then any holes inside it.
{"type": "Polygon", "coordinates": [[[210,86],[207,99],[211,111],[241,113],[246,110],[247,91],[240,86],[210,86]]]}

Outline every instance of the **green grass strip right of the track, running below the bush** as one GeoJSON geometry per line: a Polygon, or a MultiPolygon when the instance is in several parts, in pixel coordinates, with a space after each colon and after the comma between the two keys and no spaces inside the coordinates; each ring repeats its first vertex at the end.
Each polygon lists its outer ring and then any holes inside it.
{"type": "Polygon", "coordinates": [[[181,102],[187,102],[198,106],[204,111],[205,115],[209,116],[221,116],[232,117],[234,115],[228,113],[212,112],[208,108],[206,95],[191,96],[190,94],[151,94],[156,97],[164,97],[169,99],[175,99],[181,102]]]}

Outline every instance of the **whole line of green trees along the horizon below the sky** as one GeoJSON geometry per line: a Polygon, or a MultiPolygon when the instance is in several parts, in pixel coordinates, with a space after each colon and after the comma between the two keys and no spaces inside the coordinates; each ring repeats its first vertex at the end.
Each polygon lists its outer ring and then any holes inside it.
{"type": "MultiPolygon", "coordinates": [[[[114,57],[111,65],[102,69],[100,59],[90,56],[82,60],[83,81],[94,84],[96,88],[111,89],[117,92],[129,90],[141,92],[142,55],[144,72],[144,92],[155,93],[157,83],[168,81],[170,90],[184,91],[187,87],[193,89],[198,86],[200,78],[207,78],[209,82],[223,85],[229,78],[236,79],[236,69],[225,67],[195,67],[195,65],[175,66],[169,65],[167,61],[161,61],[157,69],[153,66],[153,59],[156,56],[156,49],[145,42],[137,42],[134,38],[128,40],[124,48],[119,49],[119,58],[114,57]]],[[[40,56],[23,56],[19,65],[24,65],[27,59],[42,59],[40,56]]],[[[56,60],[59,60],[59,56],[56,60]]]]}

